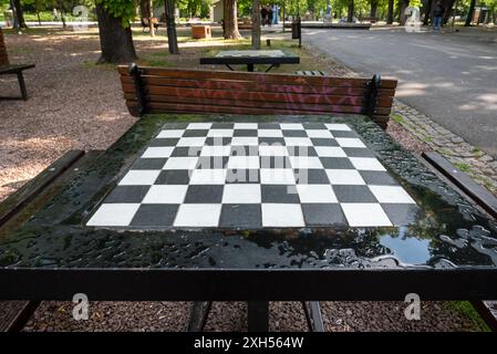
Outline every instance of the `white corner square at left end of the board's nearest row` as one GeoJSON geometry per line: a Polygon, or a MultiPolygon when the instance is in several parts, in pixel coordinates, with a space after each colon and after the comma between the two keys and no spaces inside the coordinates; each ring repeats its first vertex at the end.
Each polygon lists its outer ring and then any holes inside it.
{"type": "Polygon", "coordinates": [[[86,223],[87,226],[128,226],[139,204],[103,204],[86,223]]]}

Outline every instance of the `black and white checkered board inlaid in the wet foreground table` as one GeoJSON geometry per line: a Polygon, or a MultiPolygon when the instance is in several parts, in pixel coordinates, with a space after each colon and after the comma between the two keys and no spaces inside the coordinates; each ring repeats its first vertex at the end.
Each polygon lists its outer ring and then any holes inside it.
{"type": "Polygon", "coordinates": [[[418,208],[345,124],[166,124],[89,226],[389,227],[418,208]]]}

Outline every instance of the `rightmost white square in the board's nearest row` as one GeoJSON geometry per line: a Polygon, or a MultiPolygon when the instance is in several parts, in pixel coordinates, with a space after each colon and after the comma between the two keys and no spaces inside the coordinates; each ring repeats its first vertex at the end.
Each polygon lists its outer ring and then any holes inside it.
{"type": "Polygon", "coordinates": [[[350,227],[392,226],[385,211],[374,202],[343,202],[340,205],[350,227]]]}

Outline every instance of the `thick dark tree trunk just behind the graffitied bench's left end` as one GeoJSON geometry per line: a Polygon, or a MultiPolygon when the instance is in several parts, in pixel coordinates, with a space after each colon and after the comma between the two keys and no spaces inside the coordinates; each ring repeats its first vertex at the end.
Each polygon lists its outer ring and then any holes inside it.
{"type": "Polygon", "coordinates": [[[102,55],[97,63],[131,63],[136,60],[131,27],[124,28],[122,19],[116,19],[103,8],[95,6],[99,18],[100,46],[102,55]]]}

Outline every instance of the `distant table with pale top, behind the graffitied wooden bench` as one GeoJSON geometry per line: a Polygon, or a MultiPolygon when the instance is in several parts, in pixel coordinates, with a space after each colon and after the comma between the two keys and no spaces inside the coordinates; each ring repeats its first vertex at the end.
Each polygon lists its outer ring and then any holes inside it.
{"type": "Polygon", "coordinates": [[[300,58],[288,50],[232,50],[219,51],[214,56],[200,58],[200,64],[226,65],[234,71],[231,65],[247,65],[247,71],[253,72],[255,65],[270,65],[269,72],[275,65],[299,64],[300,58]]]}

